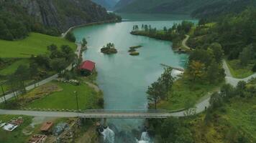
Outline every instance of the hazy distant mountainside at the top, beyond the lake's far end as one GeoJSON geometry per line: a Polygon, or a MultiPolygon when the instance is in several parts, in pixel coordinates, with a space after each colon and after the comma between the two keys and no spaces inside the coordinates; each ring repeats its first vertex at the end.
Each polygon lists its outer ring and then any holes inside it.
{"type": "Polygon", "coordinates": [[[116,4],[117,12],[193,14],[206,16],[224,11],[242,11],[256,0],[120,0],[116,4]],[[234,7],[233,7],[234,6],[234,7]],[[201,14],[201,12],[203,14],[201,14]]]}

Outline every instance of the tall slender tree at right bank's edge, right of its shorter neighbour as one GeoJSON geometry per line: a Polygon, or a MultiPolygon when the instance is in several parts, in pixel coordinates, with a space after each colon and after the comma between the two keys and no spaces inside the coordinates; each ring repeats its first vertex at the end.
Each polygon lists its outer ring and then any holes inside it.
{"type": "Polygon", "coordinates": [[[168,91],[173,86],[174,79],[172,77],[172,70],[173,69],[171,68],[165,68],[165,71],[160,77],[160,82],[163,84],[165,89],[165,94],[163,94],[163,96],[165,96],[166,98],[168,98],[168,91]]]}

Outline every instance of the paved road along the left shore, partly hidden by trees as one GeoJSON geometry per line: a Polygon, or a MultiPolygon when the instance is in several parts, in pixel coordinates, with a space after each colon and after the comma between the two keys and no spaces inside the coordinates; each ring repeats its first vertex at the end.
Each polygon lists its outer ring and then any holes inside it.
{"type": "MultiPolygon", "coordinates": [[[[75,53],[79,56],[80,51],[81,51],[81,44],[76,44],[76,45],[77,45],[77,49],[76,49],[75,53]]],[[[67,70],[72,69],[72,64],[70,64],[66,69],[67,70]]],[[[55,74],[52,77],[48,77],[47,79],[43,79],[42,81],[37,82],[36,85],[38,87],[38,86],[41,86],[43,84],[47,84],[48,82],[51,82],[53,79],[57,79],[57,78],[58,78],[58,74],[55,74]]],[[[29,90],[34,89],[34,88],[35,88],[35,84],[32,84],[32,85],[29,85],[28,87],[26,87],[26,90],[29,91],[29,90]]],[[[17,92],[15,92],[15,94],[16,94],[16,96],[19,95],[19,93],[17,93],[17,92]]],[[[15,97],[14,93],[10,93],[10,94],[5,95],[6,100],[11,99],[13,97],[15,97]]],[[[0,98],[0,104],[2,102],[4,102],[4,97],[0,98]]]]}

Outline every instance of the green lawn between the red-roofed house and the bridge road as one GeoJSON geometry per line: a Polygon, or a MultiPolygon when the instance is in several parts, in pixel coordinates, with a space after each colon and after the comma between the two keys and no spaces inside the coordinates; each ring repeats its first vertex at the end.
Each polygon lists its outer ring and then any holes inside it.
{"type": "Polygon", "coordinates": [[[57,84],[63,90],[54,92],[42,99],[37,99],[26,107],[41,109],[77,109],[76,96],[74,94],[74,91],[76,91],[78,93],[79,109],[99,108],[97,106],[99,93],[96,93],[86,84],[81,84],[81,86],[73,86],[71,84],[58,82],[53,82],[53,84],[57,84]]]}

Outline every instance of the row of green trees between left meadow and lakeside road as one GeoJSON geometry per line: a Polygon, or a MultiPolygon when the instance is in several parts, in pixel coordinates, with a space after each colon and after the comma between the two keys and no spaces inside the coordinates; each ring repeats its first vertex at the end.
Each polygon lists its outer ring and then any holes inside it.
{"type": "Polygon", "coordinates": [[[68,65],[76,62],[78,60],[76,54],[74,54],[73,49],[68,45],[60,46],[60,49],[55,44],[47,46],[49,54],[45,55],[32,55],[29,58],[29,66],[20,65],[7,77],[6,85],[14,95],[19,92],[19,94],[24,94],[27,92],[26,87],[29,82],[36,83],[47,77],[49,71],[55,71],[60,73],[68,65]]]}

